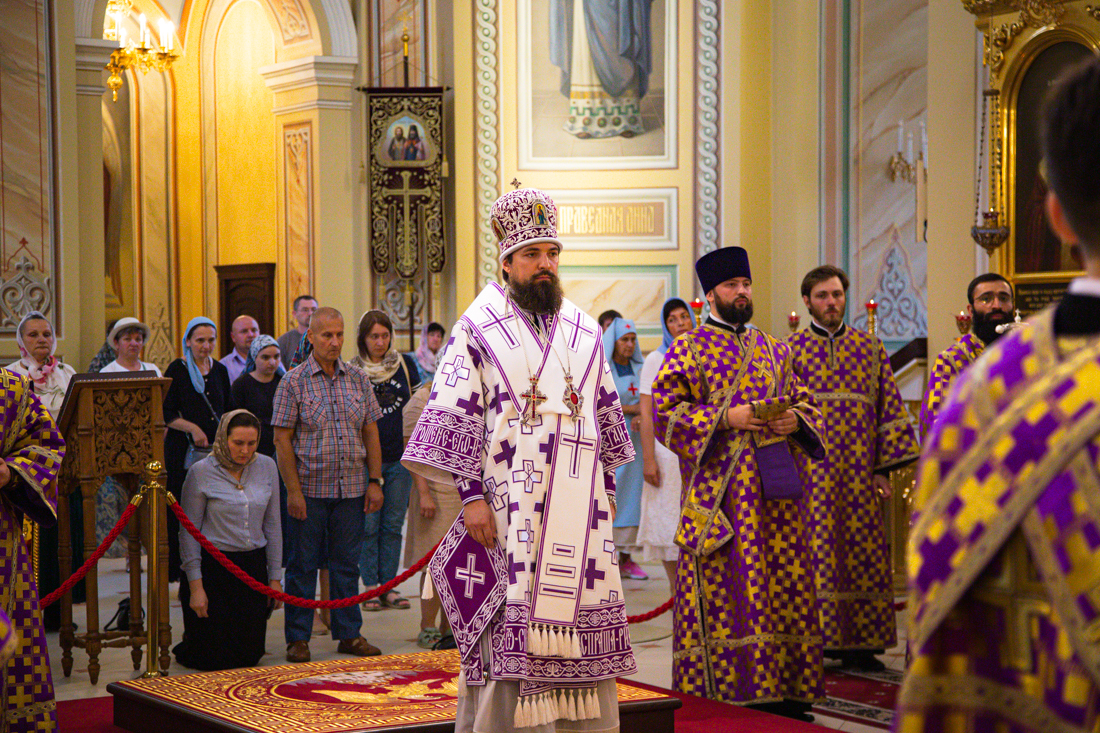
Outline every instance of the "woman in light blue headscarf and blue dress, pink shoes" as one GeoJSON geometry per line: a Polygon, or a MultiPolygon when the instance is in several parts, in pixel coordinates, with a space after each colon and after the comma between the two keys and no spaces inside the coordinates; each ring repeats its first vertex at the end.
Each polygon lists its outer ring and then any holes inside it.
{"type": "Polygon", "coordinates": [[[612,368],[615,389],[619,393],[623,414],[630,426],[635,459],[615,469],[615,522],[613,534],[619,551],[619,575],[629,580],[648,580],[649,576],[631,558],[639,551],[638,519],[641,515],[642,459],[641,435],[634,427],[634,419],[641,413],[638,386],[641,383],[641,351],[638,349],[638,329],[632,320],[616,318],[604,331],[604,358],[612,368]]]}

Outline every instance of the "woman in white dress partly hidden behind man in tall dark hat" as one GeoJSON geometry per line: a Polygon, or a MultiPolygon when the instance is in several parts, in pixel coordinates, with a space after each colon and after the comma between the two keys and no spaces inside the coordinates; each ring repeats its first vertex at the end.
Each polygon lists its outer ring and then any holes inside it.
{"type": "Polygon", "coordinates": [[[695,328],[695,316],[681,298],[669,298],[661,308],[660,348],[646,357],[641,368],[641,449],[645,483],[641,488],[641,516],[638,523],[638,545],[646,561],[660,560],[671,588],[676,578],[680,548],[673,537],[680,522],[680,459],[658,442],[653,436],[652,387],[664,363],[664,352],[681,333],[695,328]]]}

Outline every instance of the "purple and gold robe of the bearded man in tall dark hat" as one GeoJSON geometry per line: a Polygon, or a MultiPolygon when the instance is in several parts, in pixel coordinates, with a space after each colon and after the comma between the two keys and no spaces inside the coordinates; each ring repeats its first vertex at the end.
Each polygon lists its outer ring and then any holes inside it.
{"type": "Polygon", "coordinates": [[[757,446],[767,431],[721,427],[730,406],[785,396],[800,420],[787,445],[821,457],[821,415],[791,369],[790,347],[707,321],[672,342],[652,390],[654,431],[680,457],[684,483],[673,685],[725,702],[820,699],[822,637],[801,502],[762,496],[757,446]]]}

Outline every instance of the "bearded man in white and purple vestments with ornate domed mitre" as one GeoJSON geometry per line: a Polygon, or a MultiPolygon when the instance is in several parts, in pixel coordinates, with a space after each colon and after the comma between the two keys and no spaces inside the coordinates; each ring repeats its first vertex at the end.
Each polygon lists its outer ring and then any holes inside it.
{"type": "Polygon", "coordinates": [[[614,731],[636,669],[615,469],[635,451],[600,326],[562,297],[553,201],[514,190],[492,226],[505,285],[454,326],[403,458],[463,503],[428,568],[462,657],[455,730],[614,731]]]}

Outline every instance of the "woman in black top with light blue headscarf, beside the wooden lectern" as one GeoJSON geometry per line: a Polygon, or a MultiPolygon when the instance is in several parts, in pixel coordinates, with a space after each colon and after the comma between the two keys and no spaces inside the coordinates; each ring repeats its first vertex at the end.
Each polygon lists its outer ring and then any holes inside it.
{"type": "MultiPolygon", "coordinates": [[[[164,370],[172,386],[164,395],[164,463],[168,491],[180,497],[190,460],[202,458],[213,445],[218,422],[232,408],[229,370],[211,357],[218,327],[209,318],[191,318],[184,329],[184,357],[164,370]]],[[[179,580],[179,522],[168,512],[168,582],[179,580]]]]}

